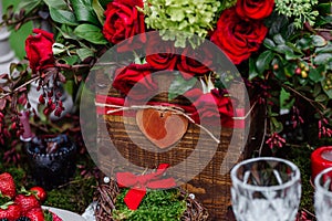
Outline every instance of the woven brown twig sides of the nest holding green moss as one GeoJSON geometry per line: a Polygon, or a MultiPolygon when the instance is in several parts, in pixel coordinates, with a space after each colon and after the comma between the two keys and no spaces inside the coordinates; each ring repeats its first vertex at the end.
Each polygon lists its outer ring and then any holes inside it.
{"type": "MultiPolygon", "coordinates": [[[[102,183],[96,191],[96,221],[113,221],[112,211],[115,208],[116,197],[120,193],[120,188],[113,179],[110,183],[102,183]]],[[[190,198],[186,191],[180,189],[183,199],[186,200],[187,210],[184,212],[183,221],[205,221],[208,220],[208,211],[195,199],[190,198]]]]}

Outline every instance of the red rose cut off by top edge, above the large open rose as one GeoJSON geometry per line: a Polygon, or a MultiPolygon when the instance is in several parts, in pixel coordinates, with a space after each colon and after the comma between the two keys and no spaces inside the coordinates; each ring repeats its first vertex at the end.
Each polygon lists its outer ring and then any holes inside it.
{"type": "Polygon", "coordinates": [[[237,13],[243,19],[264,19],[272,13],[274,0],[238,0],[237,13]]]}

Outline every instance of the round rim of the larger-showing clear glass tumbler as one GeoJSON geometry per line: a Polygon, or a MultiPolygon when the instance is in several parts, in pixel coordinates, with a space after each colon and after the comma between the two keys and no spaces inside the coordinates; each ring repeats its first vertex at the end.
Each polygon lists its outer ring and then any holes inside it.
{"type": "Polygon", "coordinates": [[[255,190],[255,191],[277,191],[277,190],[281,190],[281,189],[286,189],[288,187],[293,186],[295,182],[301,181],[301,173],[300,173],[300,169],[299,167],[291,162],[290,160],[287,159],[282,159],[282,158],[277,158],[277,157],[256,157],[256,158],[251,158],[251,159],[246,159],[242,160],[241,162],[237,164],[230,171],[230,178],[231,181],[236,185],[241,185],[243,188],[249,189],[249,190],[255,190]],[[242,182],[237,176],[236,172],[238,171],[238,169],[246,165],[246,164],[250,164],[250,162],[255,162],[255,161],[277,161],[277,162],[283,162],[287,166],[289,166],[294,172],[294,176],[291,177],[290,180],[288,180],[287,182],[282,183],[282,185],[274,185],[274,186],[255,186],[255,185],[249,185],[246,182],[242,182]]]}

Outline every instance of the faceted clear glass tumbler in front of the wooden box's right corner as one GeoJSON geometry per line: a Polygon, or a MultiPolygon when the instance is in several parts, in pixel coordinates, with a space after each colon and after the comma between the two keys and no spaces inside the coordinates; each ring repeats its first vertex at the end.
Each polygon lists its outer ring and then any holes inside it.
{"type": "Polygon", "coordinates": [[[231,172],[231,201],[237,221],[293,221],[301,200],[299,168],[289,160],[259,157],[231,172]]]}

